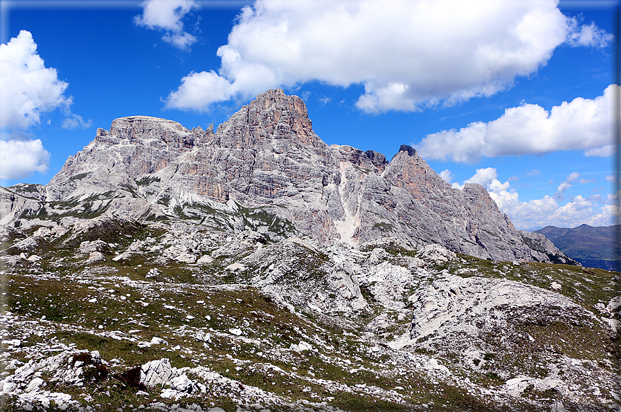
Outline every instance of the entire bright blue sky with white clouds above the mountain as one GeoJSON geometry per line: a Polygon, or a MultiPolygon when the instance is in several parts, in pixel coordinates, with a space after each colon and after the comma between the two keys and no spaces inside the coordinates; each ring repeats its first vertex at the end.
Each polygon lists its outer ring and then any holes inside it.
{"type": "Polygon", "coordinates": [[[215,127],[268,88],[328,144],[411,144],[521,229],[613,222],[616,1],[0,0],[0,185],[96,129],[215,127]]]}

